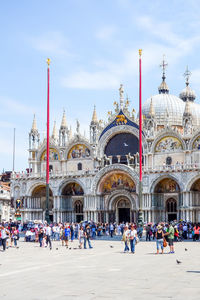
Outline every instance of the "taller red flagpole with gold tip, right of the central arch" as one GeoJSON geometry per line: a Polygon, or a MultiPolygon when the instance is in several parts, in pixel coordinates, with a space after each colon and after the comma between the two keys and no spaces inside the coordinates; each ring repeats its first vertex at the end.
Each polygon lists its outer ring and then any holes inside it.
{"type": "Polygon", "coordinates": [[[142,49],[139,49],[139,216],[138,223],[143,223],[142,214],[142,49]]]}

